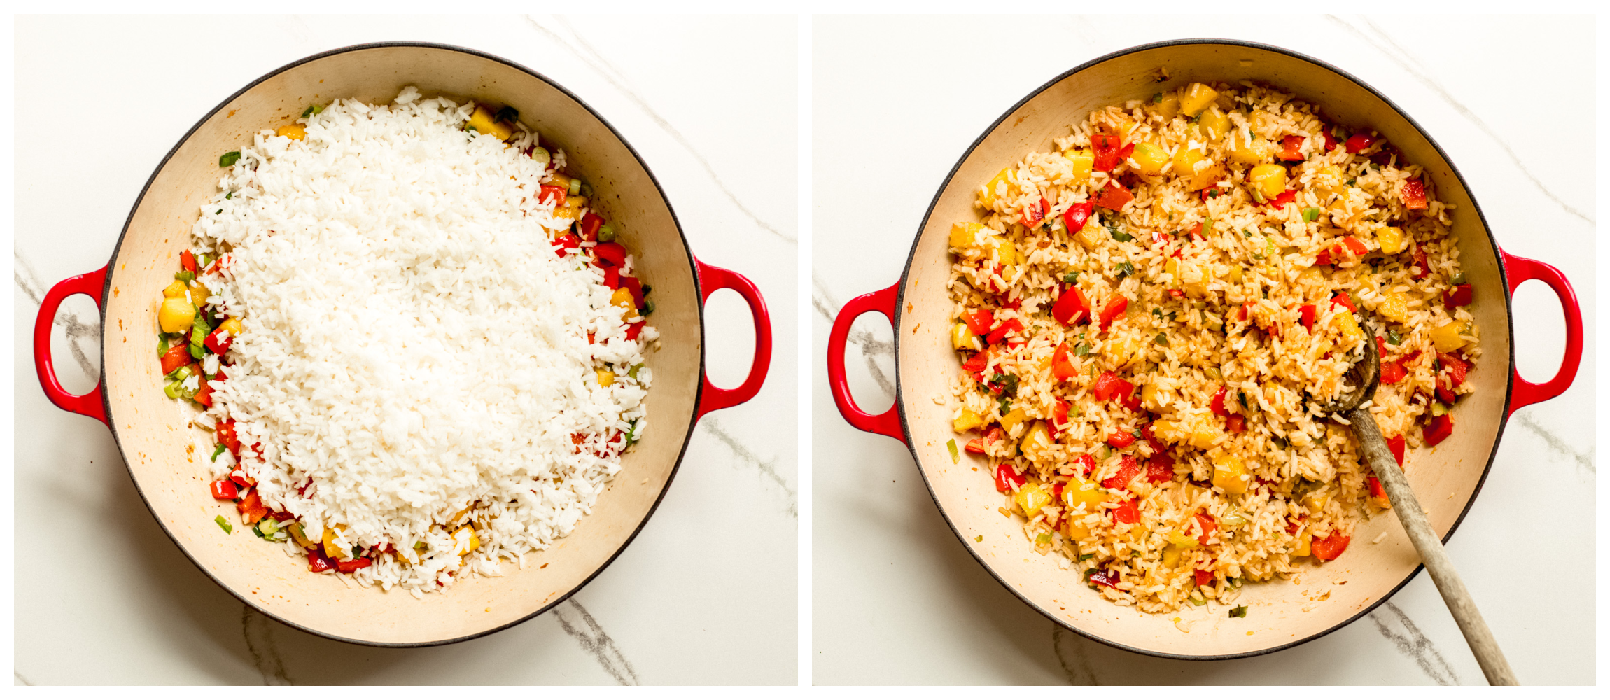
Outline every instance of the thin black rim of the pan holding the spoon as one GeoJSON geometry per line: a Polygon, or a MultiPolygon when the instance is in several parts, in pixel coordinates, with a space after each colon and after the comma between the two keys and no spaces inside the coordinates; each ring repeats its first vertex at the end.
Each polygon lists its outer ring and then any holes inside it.
{"type": "Polygon", "coordinates": [[[1079,636],[1082,636],[1085,639],[1104,644],[1108,647],[1122,649],[1125,652],[1141,653],[1141,655],[1146,655],[1146,657],[1172,658],[1172,660],[1183,660],[1183,661],[1225,661],[1225,660],[1235,660],[1235,658],[1261,657],[1261,655],[1265,655],[1265,653],[1282,652],[1282,650],[1286,650],[1286,649],[1291,649],[1291,647],[1298,647],[1298,645],[1312,642],[1312,640],[1315,640],[1319,637],[1323,637],[1323,636],[1327,636],[1330,632],[1335,632],[1335,631],[1338,631],[1341,628],[1346,628],[1348,624],[1352,624],[1359,618],[1362,618],[1362,616],[1375,611],[1375,608],[1378,608],[1381,603],[1385,603],[1393,595],[1396,595],[1397,591],[1401,591],[1404,586],[1407,586],[1410,581],[1414,581],[1414,578],[1420,574],[1420,571],[1425,568],[1425,565],[1417,565],[1414,568],[1414,571],[1410,571],[1407,576],[1404,576],[1404,579],[1397,586],[1394,586],[1385,595],[1375,599],[1375,602],[1372,602],[1370,605],[1364,607],[1362,610],[1359,610],[1359,613],[1349,616],[1348,620],[1343,620],[1341,623],[1336,623],[1336,624],[1333,624],[1333,626],[1330,626],[1330,628],[1327,628],[1327,629],[1323,629],[1320,632],[1314,632],[1314,634],[1311,634],[1307,637],[1302,637],[1302,639],[1298,639],[1294,642],[1285,642],[1285,644],[1280,644],[1280,645],[1274,645],[1274,647],[1269,647],[1269,649],[1259,649],[1259,650],[1254,650],[1254,652],[1222,653],[1222,655],[1166,653],[1166,652],[1154,652],[1154,650],[1148,650],[1148,649],[1138,649],[1138,647],[1132,647],[1132,645],[1127,645],[1127,644],[1114,642],[1111,639],[1104,639],[1104,637],[1100,637],[1096,634],[1092,634],[1092,632],[1087,632],[1084,629],[1079,629],[1079,628],[1069,624],[1067,621],[1055,616],[1050,610],[1045,610],[1043,607],[1037,605],[1034,600],[1029,600],[1009,581],[1003,579],[993,568],[990,568],[990,565],[985,563],[984,558],[972,547],[966,546],[966,537],[956,528],[956,523],[950,520],[950,515],[945,512],[945,507],[940,505],[939,494],[934,491],[934,484],[927,478],[927,470],[923,468],[923,460],[918,457],[916,449],[911,446],[911,426],[910,426],[910,423],[906,420],[905,397],[903,397],[902,388],[900,388],[900,319],[905,315],[905,312],[903,312],[903,309],[905,309],[903,299],[905,299],[905,290],[906,290],[906,278],[911,274],[911,266],[916,262],[916,248],[918,248],[918,243],[923,238],[923,230],[927,229],[927,222],[934,216],[934,208],[939,206],[940,195],[943,195],[945,188],[950,187],[950,182],[956,177],[956,172],[968,161],[968,158],[972,156],[972,151],[977,150],[979,145],[984,143],[984,140],[989,138],[989,135],[993,134],[1013,113],[1016,113],[1019,108],[1022,108],[1024,105],[1027,105],[1030,100],[1040,97],[1040,93],[1043,93],[1045,90],[1051,89],[1053,85],[1056,85],[1056,84],[1059,84],[1059,82],[1063,82],[1063,80],[1066,80],[1066,79],[1069,79],[1069,77],[1072,77],[1072,76],[1075,76],[1075,74],[1079,74],[1082,71],[1087,71],[1087,69],[1090,69],[1093,66],[1108,63],[1111,60],[1116,60],[1116,58],[1121,58],[1121,56],[1127,56],[1127,55],[1132,55],[1132,53],[1150,51],[1150,50],[1156,50],[1156,48],[1180,47],[1180,45],[1204,45],[1204,43],[1206,45],[1225,45],[1225,47],[1238,47],[1238,48],[1253,48],[1253,50],[1259,50],[1259,51],[1278,53],[1278,55],[1283,55],[1283,56],[1296,58],[1299,61],[1307,61],[1307,63],[1311,63],[1314,66],[1319,66],[1319,68],[1323,68],[1327,71],[1335,72],[1336,76],[1340,76],[1340,77],[1352,82],[1354,85],[1359,85],[1360,89],[1367,90],[1370,95],[1375,95],[1378,100],[1381,100],[1383,103],[1386,103],[1386,106],[1389,106],[1394,113],[1397,113],[1399,117],[1402,117],[1410,127],[1414,127],[1420,134],[1420,137],[1423,137],[1426,140],[1426,143],[1431,145],[1431,148],[1438,153],[1438,156],[1443,158],[1443,163],[1447,163],[1447,169],[1454,174],[1454,179],[1457,179],[1459,183],[1460,183],[1460,187],[1463,187],[1465,193],[1470,195],[1472,208],[1476,212],[1476,219],[1480,219],[1480,222],[1481,222],[1481,233],[1486,237],[1486,241],[1492,248],[1494,257],[1497,259],[1499,282],[1504,285],[1504,322],[1505,322],[1505,330],[1509,331],[1509,338],[1510,338],[1509,373],[1507,373],[1507,377],[1504,380],[1504,407],[1505,407],[1505,410],[1499,415],[1499,426],[1497,426],[1497,433],[1492,436],[1492,449],[1488,452],[1488,462],[1481,468],[1481,476],[1476,480],[1476,486],[1470,492],[1470,499],[1465,500],[1465,507],[1459,512],[1459,518],[1454,520],[1454,525],[1447,528],[1447,534],[1443,536],[1443,542],[1444,544],[1454,536],[1454,531],[1459,529],[1459,525],[1463,523],[1465,515],[1470,513],[1470,507],[1475,505],[1475,502],[1476,502],[1476,496],[1481,494],[1481,486],[1486,484],[1488,475],[1492,471],[1492,462],[1497,459],[1499,443],[1502,443],[1502,439],[1504,439],[1504,428],[1509,425],[1509,415],[1510,415],[1509,414],[1509,406],[1510,406],[1510,401],[1513,401],[1513,389],[1515,389],[1515,385],[1513,385],[1515,383],[1515,343],[1513,343],[1513,340],[1515,340],[1515,322],[1513,322],[1513,314],[1512,314],[1512,311],[1513,311],[1513,307],[1512,307],[1513,301],[1510,298],[1509,274],[1507,274],[1507,270],[1504,267],[1504,251],[1499,248],[1497,241],[1492,238],[1492,229],[1488,225],[1488,219],[1481,212],[1481,204],[1476,203],[1476,196],[1472,191],[1470,183],[1465,180],[1465,175],[1460,174],[1460,171],[1459,171],[1457,166],[1454,166],[1454,161],[1452,161],[1452,158],[1447,156],[1447,151],[1443,150],[1443,146],[1435,138],[1431,138],[1431,134],[1428,134],[1425,130],[1425,127],[1420,126],[1420,122],[1417,122],[1412,116],[1409,116],[1409,113],[1406,113],[1401,106],[1397,106],[1397,103],[1394,103],[1391,98],[1388,98],[1385,93],[1381,93],[1375,87],[1372,87],[1367,82],[1360,80],[1359,77],[1352,76],[1351,72],[1343,71],[1343,69],[1340,69],[1336,66],[1331,66],[1330,63],[1325,63],[1325,61],[1322,61],[1319,58],[1314,58],[1314,56],[1309,56],[1309,55],[1304,55],[1304,53],[1298,53],[1298,51],[1293,51],[1290,48],[1282,48],[1282,47],[1269,45],[1269,43],[1248,42],[1248,40],[1240,40],[1240,39],[1172,39],[1172,40],[1164,40],[1164,42],[1141,43],[1141,45],[1122,48],[1122,50],[1117,50],[1117,51],[1113,51],[1113,53],[1106,53],[1106,55],[1098,56],[1098,58],[1093,58],[1090,61],[1085,61],[1085,63],[1082,63],[1082,64],[1079,64],[1079,66],[1075,66],[1075,68],[1072,68],[1069,71],[1064,71],[1063,74],[1053,77],[1051,80],[1045,82],[1043,85],[1034,89],[1034,92],[1030,92],[1029,95],[1026,95],[1022,100],[1018,100],[1011,108],[1008,108],[1005,113],[1001,113],[1000,117],[997,117],[993,122],[990,122],[984,129],[984,132],[971,145],[968,145],[968,150],[963,151],[961,158],[956,159],[956,164],[952,166],[950,172],[945,174],[945,179],[940,180],[939,188],[934,191],[934,200],[929,201],[927,209],[923,212],[923,222],[918,225],[916,235],[913,237],[913,241],[911,241],[911,253],[906,256],[905,269],[900,272],[900,282],[895,285],[895,291],[897,291],[897,296],[895,296],[895,319],[894,319],[894,328],[895,328],[895,333],[894,333],[894,352],[895,352],[895,409],[898,409],[898,412],[900,412],[900,430],[905,434],[906,451],[911,452],[911,460],[916,462],[916,465],[918,465],[918,475],[923,476],[923,484],[927,486],[927,494],[934,500],[934,507],[939,509],[939,515],[942,518],[945,518],[945,525],[956,536],[956,539],[963,541],[963,549],[966,549],[968,554],[980,566],[984,566],[984,570],[992,578],[995,578],[997,583],[1001,584],[1001,587],[1005,587],[1013,595],[1016,595],[1019,600],[1022,600],[1026,605],[1029,605],[1029,608],[1032,608],[1034,611],[1043,615],[1046,620],[1051,620],[1053,623],[1056,623],[1063,629],[1067,629],[1067,631],[1071,631],[1074,634],[1079,634],[1079,636]]]}

